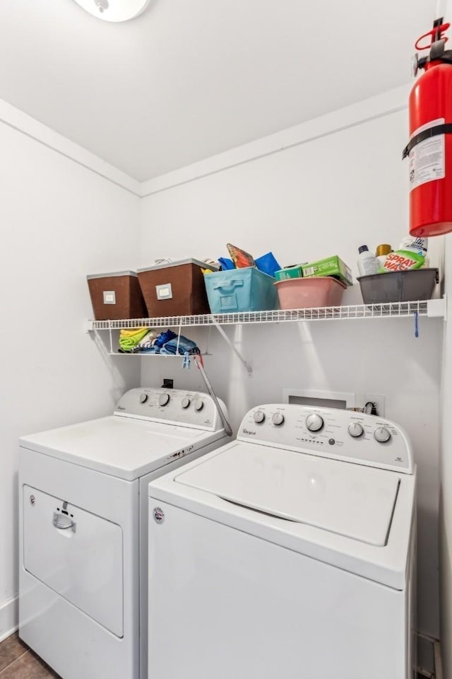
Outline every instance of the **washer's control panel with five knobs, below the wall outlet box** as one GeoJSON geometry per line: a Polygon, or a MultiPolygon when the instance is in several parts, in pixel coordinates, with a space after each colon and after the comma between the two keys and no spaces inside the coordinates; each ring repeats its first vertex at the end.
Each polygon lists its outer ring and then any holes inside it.
{"type": "Polygon", "coordinates": [[[412,447],[390,420],[350,410],[259,405],[246,413],[239,441],[412,473],[412,447]]]}

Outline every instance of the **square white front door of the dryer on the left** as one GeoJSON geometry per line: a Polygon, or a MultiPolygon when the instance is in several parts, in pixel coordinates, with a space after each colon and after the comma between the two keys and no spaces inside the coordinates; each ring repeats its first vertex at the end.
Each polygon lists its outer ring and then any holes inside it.
{"type": "Polygon", "coordinates": [[[122,554],[116,523],[23,487],[25,569],[117,637],[123,635],[122,554]]]}

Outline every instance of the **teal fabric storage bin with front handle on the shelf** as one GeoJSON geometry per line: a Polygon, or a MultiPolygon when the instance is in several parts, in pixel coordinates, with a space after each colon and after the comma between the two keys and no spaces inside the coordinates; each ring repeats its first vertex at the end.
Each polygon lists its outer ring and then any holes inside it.
{"type": "Polygon", "coordinates": [[[255,269],[229,269],[204,276],[212,313],[278,309],[275,279],[255,269]]]}

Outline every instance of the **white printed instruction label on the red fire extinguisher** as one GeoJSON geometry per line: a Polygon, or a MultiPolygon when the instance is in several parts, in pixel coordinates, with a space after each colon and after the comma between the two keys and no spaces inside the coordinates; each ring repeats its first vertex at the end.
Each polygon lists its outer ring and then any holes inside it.
{"type": "MultiPolygon", "coordinates": [[[[436,127],[436,125],[444,124],[444,122],[444,118],[431,120],[427,124],[422,125],[422,127],[418,127],[415,132],[412,133],[411,139],[420,132],[423,132],[424,129],[436,127]]],[[[436,179],[444,179],[446,176],[444,156],[444,134],[438,134],[436,137],[424,139],[424,141],[420,141],[419,144],[413,146],[408,155],[410,160],[410,191],[417,186],[427,184],[427,182],[433,182],[436,179]]]]}

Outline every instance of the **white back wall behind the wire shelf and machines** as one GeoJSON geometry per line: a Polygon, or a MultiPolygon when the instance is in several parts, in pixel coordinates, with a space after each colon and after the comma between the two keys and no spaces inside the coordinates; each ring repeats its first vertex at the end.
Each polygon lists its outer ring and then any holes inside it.
{"type": "MultiPolygon", "coordinates": [[[[147,182],[141,265],[155,257],[226,255],[226,243],[281,265],[339,254],[357,274],[363,243],[397,246],[408,231],[407,139],[402,89],[305,126],[147,182]],[[279,149],[284,149],[280,151],[279,149]]],[[[432,264],[442,240],[432,242],[432,264]]],[[[344,301],[359,298],[357,286],[344,301]]],[[[189,336],[194,332],[187,332],[189,336]]],[[[279,324],[230,329],[253,368],[248,378],[218,337],[206,368],[237,427],[285,387],[382,393],[386,416],[410,433],[419,465],[419,627],[438,636],[439,383],[442,322],[412,320],[279,324]]],[[[200,340],[201,341],[201,340],[200,340]]],[[[142,359],[143,383],[202,387],[196,368],[142,359]]]]}

